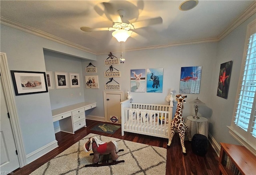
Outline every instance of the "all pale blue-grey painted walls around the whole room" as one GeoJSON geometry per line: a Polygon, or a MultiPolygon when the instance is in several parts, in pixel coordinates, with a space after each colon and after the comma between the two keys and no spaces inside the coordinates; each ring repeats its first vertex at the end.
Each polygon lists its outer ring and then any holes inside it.
{"type": "MultiPolygon", "coordinates": [[[[186,118],[194,114],[194,108],[188,102],[198,97],[206,103],[205,106],[200,106],[199,115],[208,118],[209,132],[216,142],[238,144],[228,134],[226,126],[230,125],[233,115],[246,27],[255,18],[256,14],[220,42],[124,52],[125,63],[114,66],[121,71],[121,77],[115,80],[121,85],[121,90],[125,94],[130,90],[130,69],[164,68],[163,93],[131,92],[131,95],[134,102],[167,104],[165,96],[168,95],[170,88],[174,89],[174,94],[179,94],[181,67],[202,66],[200,94],[187,94],[183,116],[186,118]],[[228,99],[223,99],[216,96],[220,64],[230,60],[233,61],[231,85],[228,99]]],[[[4,25],[1,25],[0,36],[0,49],[7,55],[10,70],[45,72],[48,69],[47,71],[72,71],[82,75],[80,81],[83,85],[81,84],[82,86],[77,89],[56,90],[54,85],[54,90],[47,93],[15,96],[27,154],[55,140],[52,108],[93,101],[97,102],[97,107],[89,110],[88,114],[104,117],[103,91],[104,84],[108,81],[108,78],[104,77],[104,71],[109,69],[104,65],[104,59],[108,57],[107,54],[96,56],[4,25]],[[97,73],[85,73],[84,69],[90,62],[97,67],[97,73]],[[100,88],[86,89],[85,75],[98,75],[100,88]],[[77,96],[79,92],[82,92],[82,96],[77,96]],[[71,93],[75,98],[71,98],[71,93]]],[[[117,57],[120,55],[120,53],[113,54],[117,57]]],[[[175,109],[176,106],[174,112],[175,109]]]]}

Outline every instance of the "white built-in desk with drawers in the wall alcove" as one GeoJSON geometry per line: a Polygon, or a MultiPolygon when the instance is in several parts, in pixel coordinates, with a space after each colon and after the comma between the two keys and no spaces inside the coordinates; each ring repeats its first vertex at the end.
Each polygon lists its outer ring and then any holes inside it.
{"type": "Polygon", "coordinates": [[[53,122],[59,121],[60,131],[74,134],[76,130],[86,127],[85,111],[95,108],[96,102],[81,102],[52,110],[53,122]]]}

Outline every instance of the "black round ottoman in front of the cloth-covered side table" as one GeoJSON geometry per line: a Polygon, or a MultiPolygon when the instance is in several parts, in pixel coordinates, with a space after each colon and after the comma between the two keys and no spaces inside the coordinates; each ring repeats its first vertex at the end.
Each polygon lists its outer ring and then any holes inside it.
{"type": "Polygon", "coordinates": [[[208,138],[202,134],[195,134],[192,138],[191,148],[196,155],[204,156],[208,151],[208,138]]]}

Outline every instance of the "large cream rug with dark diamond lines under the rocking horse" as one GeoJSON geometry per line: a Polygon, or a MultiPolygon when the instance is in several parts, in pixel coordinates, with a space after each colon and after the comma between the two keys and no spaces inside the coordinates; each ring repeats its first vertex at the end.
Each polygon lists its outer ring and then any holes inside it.
{"type": "Polygon", "coordinates": [[[166,149],[162,147],[89,134],[30,175],[165,175],[166,153],[166,149]],[[118,153],[118,161],[124,162],[111,166],[84,167],[92,164],[92,152],[86,153],[83,150],[83,145],[92,136],[97,136],[103,142],[115,140],[118,149],[124,149],[118,153]]]}

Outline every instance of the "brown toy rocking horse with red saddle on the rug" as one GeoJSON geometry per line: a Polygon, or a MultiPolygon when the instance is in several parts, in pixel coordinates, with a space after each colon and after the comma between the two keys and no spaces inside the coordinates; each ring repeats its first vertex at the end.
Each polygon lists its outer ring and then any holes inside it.
{"type": "Polygon", "coordinates": [[[90,138],[86,144],[84,144],[84,151],[88,152],[92,150],[93,153],[90,155],[94,155],[92,162],[93,164],[85,165],[85,167],[99,167],[99,166],[108,166],[108,165],[115,165],[121,162],[124,162],[124,160],[117,161],[118,155],[117,153],[119,151],[124,151],[123,149],[118,150],[118,145],[116,141],[111,142],[102,142],[100,139],[98,139],[96,136],[90,138]],[[102,163],[99,164],[100,155],[103,156],[102,163]],[[112,162],[108,162],[109,156],[112,158],[112,162]]]}

